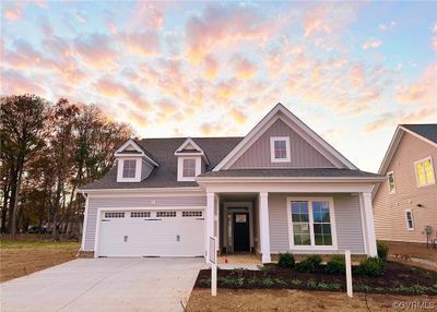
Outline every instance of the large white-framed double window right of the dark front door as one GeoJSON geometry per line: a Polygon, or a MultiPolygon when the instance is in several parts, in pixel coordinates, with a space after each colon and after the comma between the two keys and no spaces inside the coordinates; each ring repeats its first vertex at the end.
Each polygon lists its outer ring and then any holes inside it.
{"type": "Polygon", "coordinates": [[[291,200],[288,203],[292,248],[335,247],[331,200],[291,200]]]}

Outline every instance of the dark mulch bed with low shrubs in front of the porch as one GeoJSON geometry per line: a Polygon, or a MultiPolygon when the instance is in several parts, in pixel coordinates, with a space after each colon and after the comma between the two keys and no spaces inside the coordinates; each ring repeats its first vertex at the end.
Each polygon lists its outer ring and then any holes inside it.
{"type": "MultiPolygon", "coordinates": [[[[345,276],[330,275],[321,267],[315,273],[302,273],[269,264],[269,269],[218,269],[220,288],[262,289],[286,288],[300,290],[345,291],[345,276]]],[[[211,285],[211,271],[202,269],[197,288],[211,285]]],[[[353,274],[354,291],[397,295],[437,295],[437,272],[388,261],[382,276],[368,277],[353,274]]]]}

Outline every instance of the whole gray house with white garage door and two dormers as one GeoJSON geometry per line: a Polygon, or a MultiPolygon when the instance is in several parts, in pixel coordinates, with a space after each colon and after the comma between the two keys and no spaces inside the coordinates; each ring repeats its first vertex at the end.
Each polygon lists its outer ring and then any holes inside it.
{"type": "Polygon", "coordinates": [[[376,255],[371,190],[361,171],[277,104],[244,137],[129,140],[81,189],[82,252],[204,256],[217,251],[376,255]]]}

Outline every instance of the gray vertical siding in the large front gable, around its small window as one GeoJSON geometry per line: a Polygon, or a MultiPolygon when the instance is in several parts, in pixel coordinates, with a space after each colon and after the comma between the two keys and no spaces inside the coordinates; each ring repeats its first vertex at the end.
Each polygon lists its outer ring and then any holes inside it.
{"type": "Polygon", "coordinates": [[[314,148],[306,140],[284,121],[275,121],[253,144],[231,166],[243,168],[335,168],[335,166],[314,148]],[[290,136],[291,161],[272,163],[270,137],[290,136]]]}

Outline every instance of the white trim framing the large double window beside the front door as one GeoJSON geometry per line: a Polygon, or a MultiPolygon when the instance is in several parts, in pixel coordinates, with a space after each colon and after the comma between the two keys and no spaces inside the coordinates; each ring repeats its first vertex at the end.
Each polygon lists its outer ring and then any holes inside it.
{"type": "Polygon", "coordinates": [[[287,211],[287,227],[288,227],[288,242],[291,251],[298,250],[338,250],[336,243],[336,225],[335,225],[335,213],[334,213],[334,201],[333,197],[287,197],[286,199],[286,211],[287,211]],[[331,237],[332,245],[316,245],[314,235],[314,220],[312,220],[312,201],[327,201],[329,202],[329,216],[331,221],[331,237]],[[309,236],[311,245],[295,245],[294,233],[292,224],[292,202],[308,202],[308,216],[309,216],[309,236]]]}

